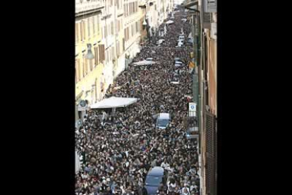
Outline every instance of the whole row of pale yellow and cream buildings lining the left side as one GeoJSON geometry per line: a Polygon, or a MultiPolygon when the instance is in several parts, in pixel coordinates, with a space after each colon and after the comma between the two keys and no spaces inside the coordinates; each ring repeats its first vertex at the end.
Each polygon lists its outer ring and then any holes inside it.
{"type": "Polygon", "coordinates": [[[85,100],[91,105],[104,98],[114,78],[140,52],[140,42],[171,13],[174,0],[75,1],[76,120],[85,100]],[[148,31],[147,31],[148,30],[148,31]],[[93,59],[86,54],[92,52],[93,59]]]}

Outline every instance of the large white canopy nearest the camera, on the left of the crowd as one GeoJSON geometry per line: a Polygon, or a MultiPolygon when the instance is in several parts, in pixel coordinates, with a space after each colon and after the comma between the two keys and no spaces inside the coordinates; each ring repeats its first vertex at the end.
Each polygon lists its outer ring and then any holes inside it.
{"type": "Polygon", "coordinates": [[[114,108],[114,107],[126,107],[137,102],[138,98],[117,98],[112,96],[111,98],[104,99],[93,105],[90,105],[91,109],[101,109],[101,108],[114,108]]]}

